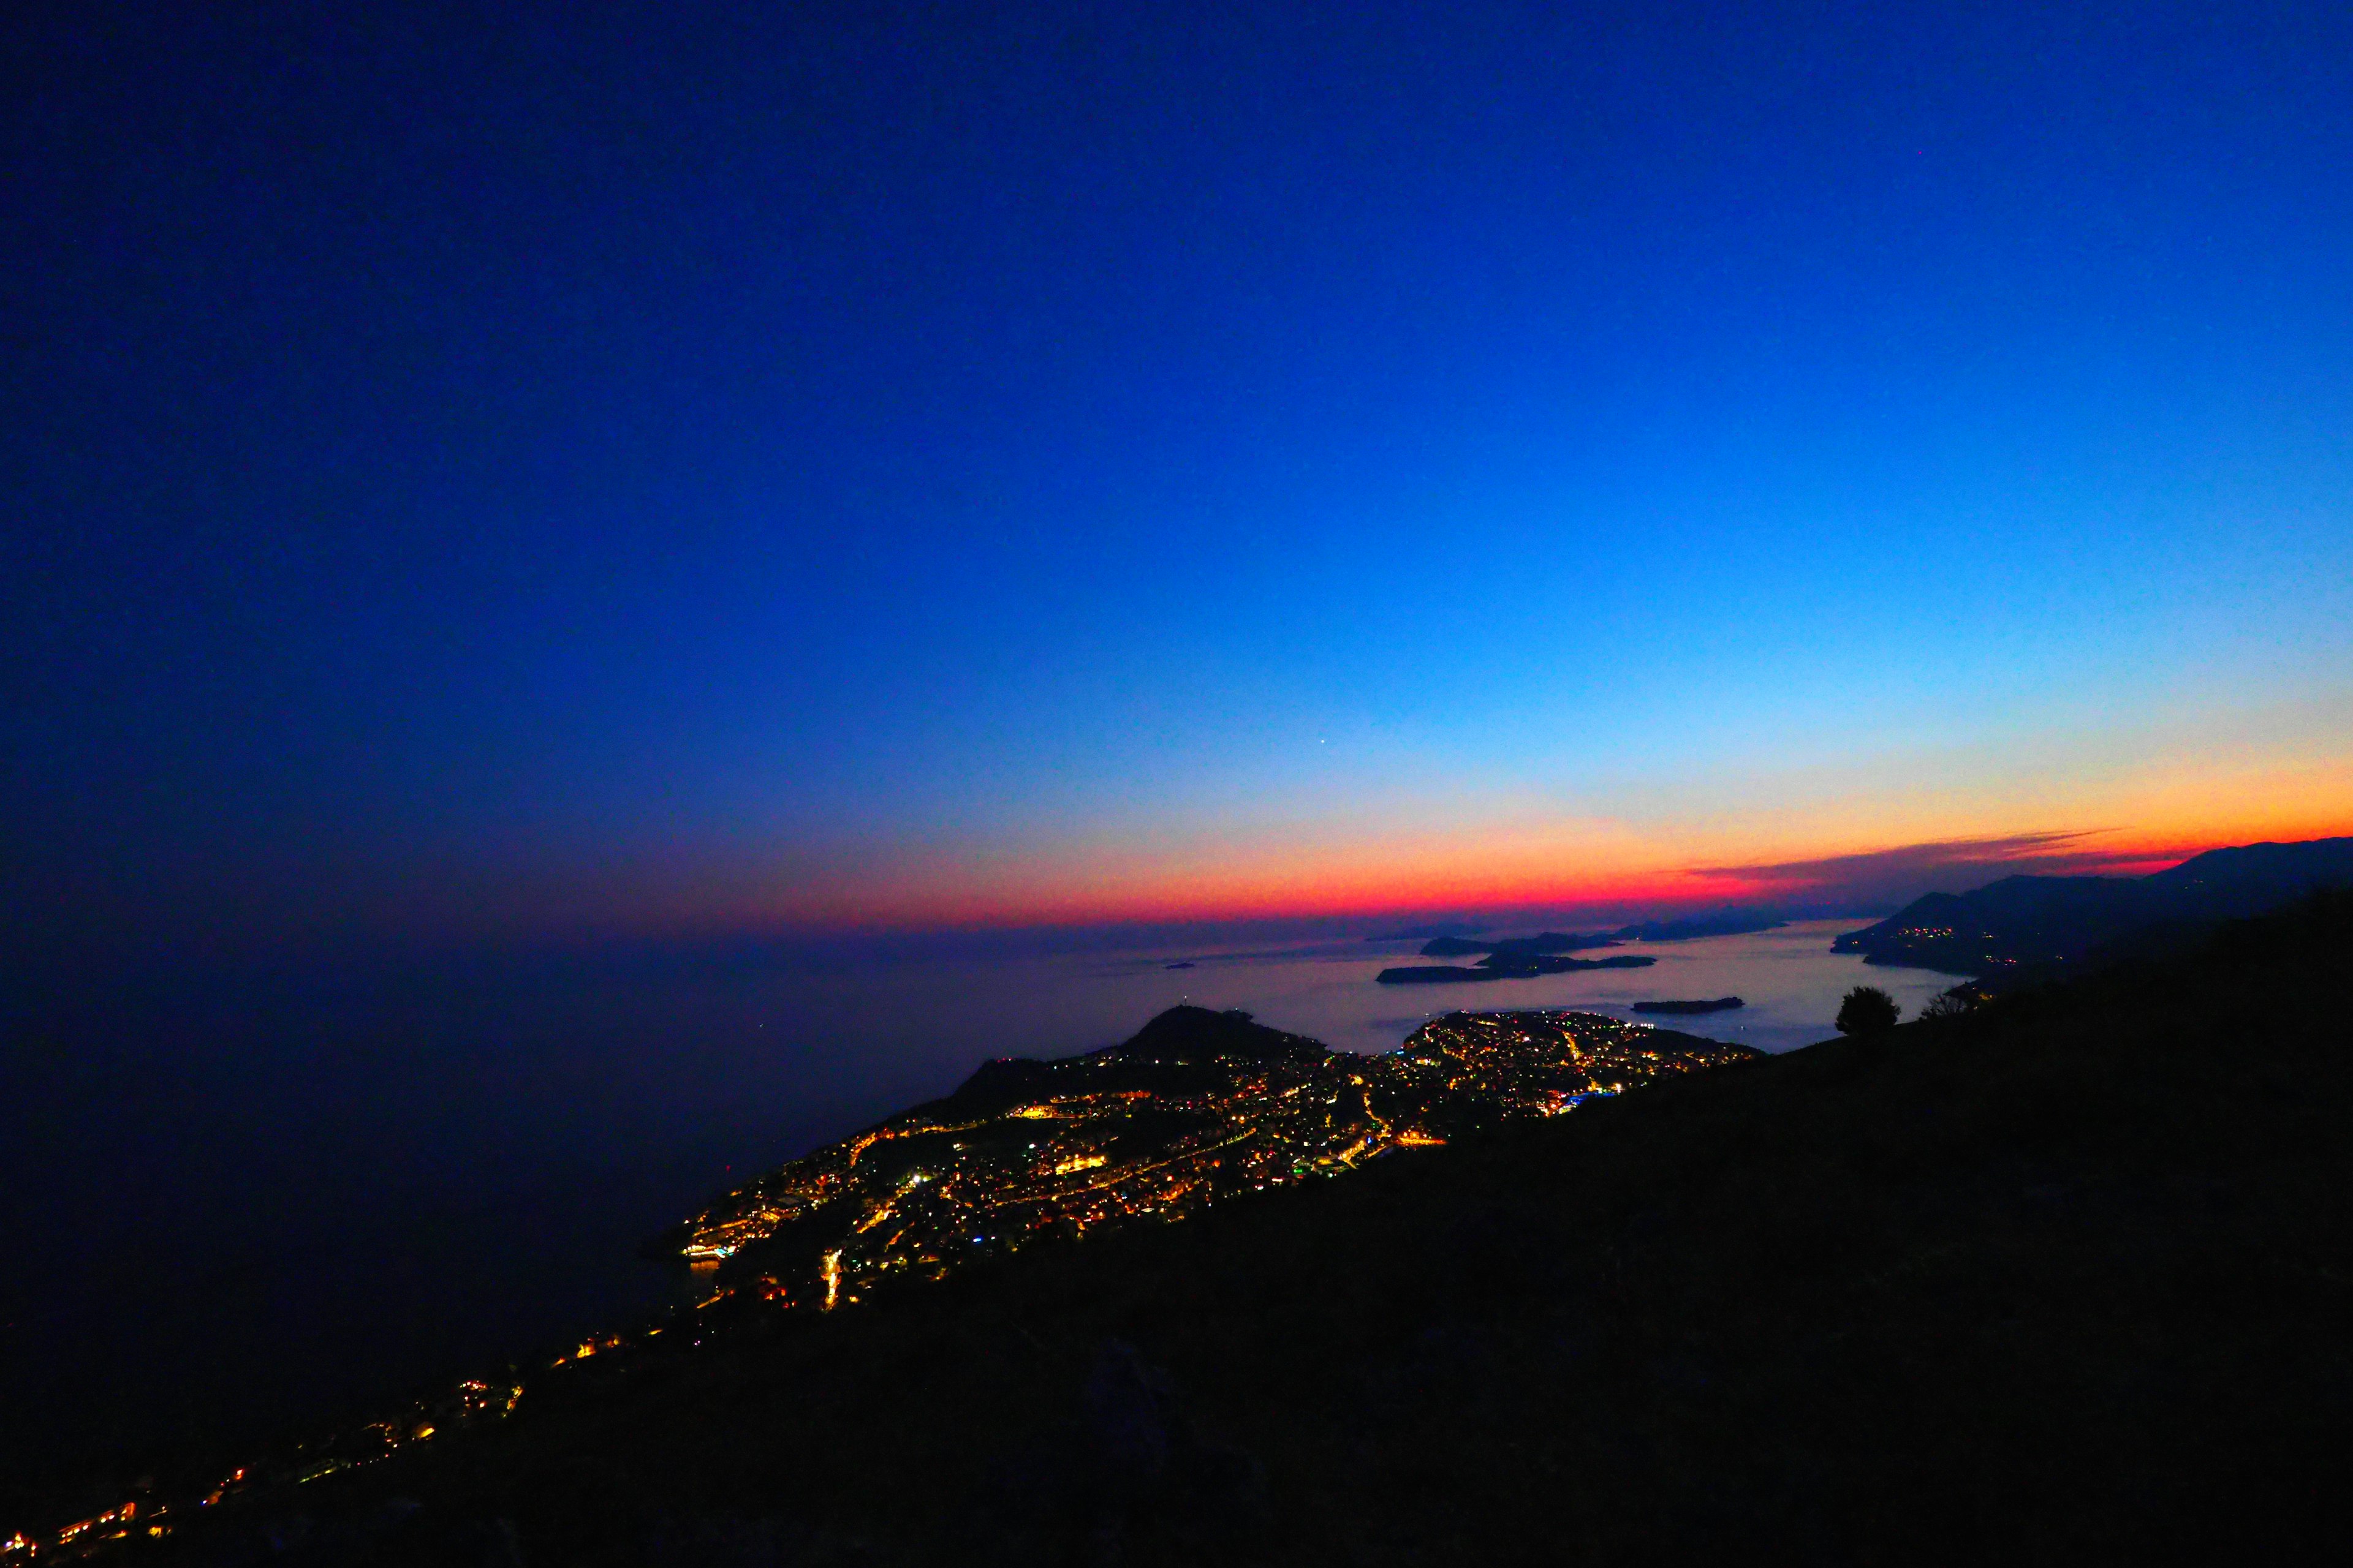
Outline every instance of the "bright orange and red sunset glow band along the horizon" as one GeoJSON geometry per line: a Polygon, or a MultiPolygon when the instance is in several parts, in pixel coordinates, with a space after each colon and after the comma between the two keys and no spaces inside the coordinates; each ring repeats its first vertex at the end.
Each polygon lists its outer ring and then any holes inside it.
{"type": "Polygon", "coordinates": [[[2233,844],[2353,835],[2353,743],[2337,724],[2348,712],[2332,698],[1814,771],[1725,771],[1584,811],[1466,792],[1249,827],[1096,827],[1024,846],[878,853],[784,889],[741,886],[729,903],[739,929],[944,931],[1649,917],[1819,905],[1857,886],[1882,889],[1871,900],[1887,905],[1908,863],[1922,867],[1911,896],[1939,891],[1946,865],[1969,886],[2038,870],[2129,877],[2233,844]]]}

